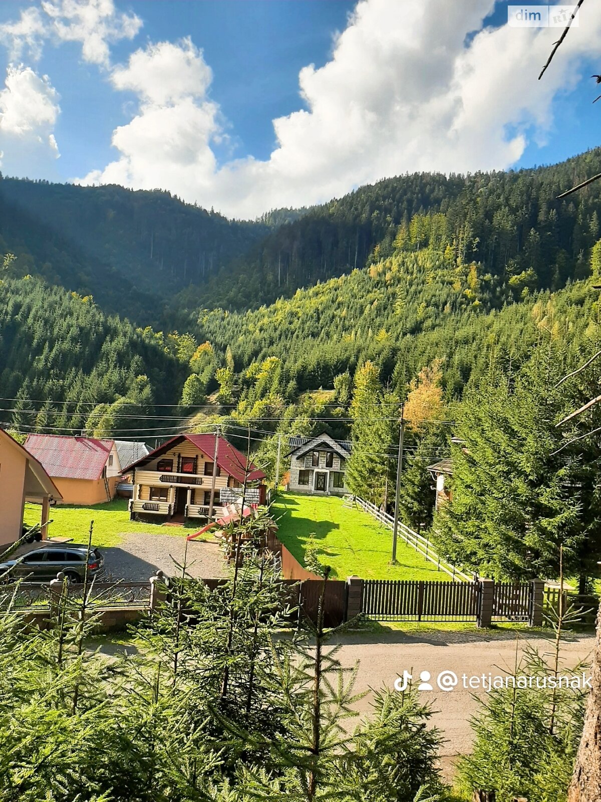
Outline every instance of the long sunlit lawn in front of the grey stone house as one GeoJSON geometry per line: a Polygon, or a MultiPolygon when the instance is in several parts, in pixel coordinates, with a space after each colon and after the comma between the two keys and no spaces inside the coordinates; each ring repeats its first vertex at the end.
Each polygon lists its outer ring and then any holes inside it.
{"type": "Polygon", "coordinates": [[[333,577],[356,574],[363,579],[441,579],[450,577],[436,565],[397,541],[398,565],[389,565],[393,533],[367,512],[344,508],[334,496],[297,496],[280,493],[272,504],[277,536],[305,565],[305,546],[313,533],[322,564],[330,565],[333,577]]]}

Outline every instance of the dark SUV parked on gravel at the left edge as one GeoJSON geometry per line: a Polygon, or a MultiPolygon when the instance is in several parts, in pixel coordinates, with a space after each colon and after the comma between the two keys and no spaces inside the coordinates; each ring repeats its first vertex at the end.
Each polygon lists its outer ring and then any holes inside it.
{"type": "MultiPolygon", "coordinates": [[[[87,546],[77,543],[46,544],[22,557],[0,563],[0,576],[4,581],[22,579],[27,582],[50,582],[63,571],[71,584],[83,582],[86,573],[87,546]]],[[[88,577],[103,569],[104,557],[98,549],[91,549],[87,564],[88,577]]]]}

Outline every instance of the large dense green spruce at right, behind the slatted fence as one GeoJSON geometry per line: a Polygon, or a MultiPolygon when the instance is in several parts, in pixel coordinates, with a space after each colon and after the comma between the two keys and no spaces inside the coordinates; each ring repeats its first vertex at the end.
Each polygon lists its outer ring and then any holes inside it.
{"type": "Polygon", "coordinates": [[[557,387],[564,364],[549,342],[517,374],[492,376],[463,403],[452,500],[434,521],[438,548],[456,564],[498,579],[556,577],[563,545],[568,571],[594,570],[599,492],[580,449],[562,448],[571,436],[557,427],[571,408],[557,387]]]}

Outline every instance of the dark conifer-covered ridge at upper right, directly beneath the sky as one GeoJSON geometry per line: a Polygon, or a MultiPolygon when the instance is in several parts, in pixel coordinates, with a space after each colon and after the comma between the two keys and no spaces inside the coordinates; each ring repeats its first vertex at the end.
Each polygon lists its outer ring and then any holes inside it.
{"type": "Polygon", "coordinates": [[[281,225],[220,270],[202,294],[189,288],[178,303],[188,309],[269,303],[388,256],[398,237],[414,250],[430,241],[449,246],[503,282],[521,277],[532,289],[558,289],[586,273],[587,249],[600,233],[601,184],[567,200],[557,196],[598,172],[599,148],[519,172],[382,180],[281,225]]]}

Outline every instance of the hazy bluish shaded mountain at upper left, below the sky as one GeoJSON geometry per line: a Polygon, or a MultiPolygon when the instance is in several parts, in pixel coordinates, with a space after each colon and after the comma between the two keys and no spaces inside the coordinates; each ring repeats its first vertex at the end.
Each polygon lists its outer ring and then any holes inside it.
{"type": "Polygon", "coordinates": [[[159,190],[0,180],[0,252],[15,253],[22,273],[131,318],[159,318],[168,296],[205,282],[269,225],[229,221],[159,190]]]}

